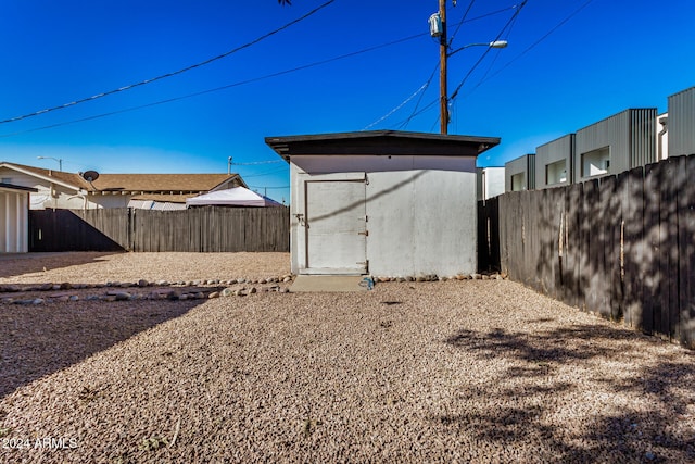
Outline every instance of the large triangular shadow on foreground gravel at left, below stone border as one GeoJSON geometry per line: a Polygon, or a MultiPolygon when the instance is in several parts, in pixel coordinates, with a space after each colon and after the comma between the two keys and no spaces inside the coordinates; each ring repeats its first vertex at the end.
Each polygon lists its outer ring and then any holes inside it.
{"type": "Polygon", "coordinates": [[[206,300],[0,305],[0,399],[206,300]]]}

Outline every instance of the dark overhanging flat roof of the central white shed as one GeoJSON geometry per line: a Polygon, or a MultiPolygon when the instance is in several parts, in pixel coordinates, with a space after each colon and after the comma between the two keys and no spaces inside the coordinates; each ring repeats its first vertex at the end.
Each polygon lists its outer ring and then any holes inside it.
{"type": "Polygon", "coordinates": [[[498,137],[457,136],[400,130],[369,130],[287,137],[265,142],[282,159],[292,155],[439,155],[478,156],[500,145],[498,137]]]}

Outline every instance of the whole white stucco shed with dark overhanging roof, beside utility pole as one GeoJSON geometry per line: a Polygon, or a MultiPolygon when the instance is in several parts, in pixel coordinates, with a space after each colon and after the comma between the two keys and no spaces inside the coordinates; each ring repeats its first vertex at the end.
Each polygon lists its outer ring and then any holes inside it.
{"type": "Polygon", "coordinates": [[[293,273],[477,271],[476,158],[498,138],[376,130],[265,140],[290,163],[293,273]]]}

